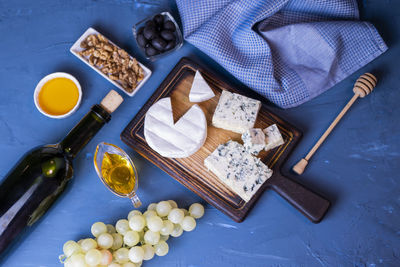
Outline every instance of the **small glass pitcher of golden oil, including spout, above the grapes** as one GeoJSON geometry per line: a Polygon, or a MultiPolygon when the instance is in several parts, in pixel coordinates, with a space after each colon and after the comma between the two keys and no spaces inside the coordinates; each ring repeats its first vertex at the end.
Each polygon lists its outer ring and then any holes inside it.
{"type": "Polygon", "coordinates": [[[119,197],[129,198],[133,206],[142,205],[136,195],[138,175],[131,158],[121,148],[102,142],[94,154],[94,167],[103,184],[119,197]]]}

